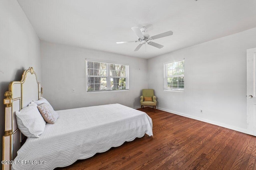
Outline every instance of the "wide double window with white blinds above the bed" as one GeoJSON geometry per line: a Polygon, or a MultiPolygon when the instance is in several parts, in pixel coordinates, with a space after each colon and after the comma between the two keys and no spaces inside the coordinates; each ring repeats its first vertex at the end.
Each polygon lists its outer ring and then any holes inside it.
{"type": "Polygon", "coordinates": [[[86,60],[86,71],[87,92],[129,89],[128,64],[86,60]]]}

